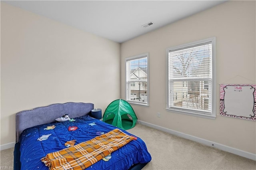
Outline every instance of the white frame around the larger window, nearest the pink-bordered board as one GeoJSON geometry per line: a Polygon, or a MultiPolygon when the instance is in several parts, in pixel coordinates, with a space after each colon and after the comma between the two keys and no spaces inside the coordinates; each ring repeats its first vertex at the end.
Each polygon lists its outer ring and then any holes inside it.
{"type": "Polygon", "coordinates": [[[216,118],[216,37],[207,38],[204,40],[199,40],[196,42],[186,43],[174,47],[169,47],[166,49],[166,111],[173,112],[173,113],[179,113],[184,115],[191,115],[196,117],[202,117],[207,119],[215,119],[216,118]],[[212,42],[212,101],[211,101],[211,111],[204,112],[204,111],[193,111],[188,109],[182,109],[182,108],[175,108],[169,106],[169,95],[170,93],[170,85],[169,85],[169,51],[171,50],[178,50],[178,49],[186,49],[192,46],[198,46],[202,43],[212,42]]]}

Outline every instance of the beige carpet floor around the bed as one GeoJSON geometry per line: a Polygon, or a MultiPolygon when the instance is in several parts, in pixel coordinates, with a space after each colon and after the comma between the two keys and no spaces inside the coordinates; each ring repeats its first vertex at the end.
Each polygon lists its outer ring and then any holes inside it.
{"type": "MultiPolygon", "coordinates": [[[[139,136],[152,156],[143,170],[256,170],[256,161],[137,124],[128,132],[139,136]]],[[[13,150],[0,152],[0,166],[13,167],[13,150]]]]}

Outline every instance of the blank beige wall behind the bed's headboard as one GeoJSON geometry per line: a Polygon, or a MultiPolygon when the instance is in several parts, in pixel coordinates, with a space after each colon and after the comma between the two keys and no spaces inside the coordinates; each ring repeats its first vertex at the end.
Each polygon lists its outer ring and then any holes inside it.
{"type": "Polygon", "coordinates": [[[1,145],[15,142],[18,111],[119,98],[119,43],[1,2],[1,145]]]}

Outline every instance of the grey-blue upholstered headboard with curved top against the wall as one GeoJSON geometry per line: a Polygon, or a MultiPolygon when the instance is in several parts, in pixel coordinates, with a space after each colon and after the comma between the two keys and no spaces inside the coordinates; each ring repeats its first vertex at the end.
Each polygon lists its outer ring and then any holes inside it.
{"type": "Polygon", "coordinates": [[[69,114],[70,118],[81,117],[91,113],[94,109],[92,103],[56,103],[44,107],[16,113],[16,142],[26,128],[54,122],[56,118],[69,114]]]}

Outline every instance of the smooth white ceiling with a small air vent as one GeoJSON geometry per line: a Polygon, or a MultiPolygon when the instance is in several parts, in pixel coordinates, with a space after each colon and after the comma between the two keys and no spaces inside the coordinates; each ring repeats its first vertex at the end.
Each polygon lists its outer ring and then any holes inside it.
{"type": "Polygon", "coordinates": [[[226,0],[3,1],[115,42],[125,42],[226,0]],[[142,25],[153,22],[146,28],[142,25]]]}

